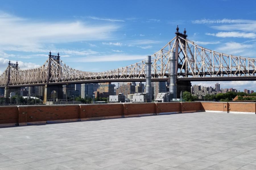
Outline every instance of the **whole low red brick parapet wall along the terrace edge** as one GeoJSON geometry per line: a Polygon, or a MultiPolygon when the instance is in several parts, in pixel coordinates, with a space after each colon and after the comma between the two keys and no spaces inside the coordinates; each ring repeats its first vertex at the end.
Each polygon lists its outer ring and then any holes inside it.
{"type": "Polygon", "coordinates": [[[196,111],[255,114],[256,103],[168,102],[86,105],[0,106],[0,126],[121,118],[196,111]]]}

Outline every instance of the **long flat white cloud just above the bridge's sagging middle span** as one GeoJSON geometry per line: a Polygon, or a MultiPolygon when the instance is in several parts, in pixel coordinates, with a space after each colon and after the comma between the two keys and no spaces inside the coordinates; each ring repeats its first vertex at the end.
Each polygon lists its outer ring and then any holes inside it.
{"type": "MultiPolygon", "coordinates": [[[[79,62],[104,62],[104,61],[128,61],[145,59],[146,55],[129,55],[129,54],[113,54],[113,55],[95,55],[94,57],[77,58],[79,62]]],[[[69,62],[75,62],[76,58],[70,59],[69,62]]]]}

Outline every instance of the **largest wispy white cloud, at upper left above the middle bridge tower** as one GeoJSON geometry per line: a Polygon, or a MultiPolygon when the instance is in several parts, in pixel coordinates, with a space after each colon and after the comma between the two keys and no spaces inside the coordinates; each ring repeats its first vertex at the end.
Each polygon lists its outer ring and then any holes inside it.
{"type": "Polygon", "coordinates": [[[42,22],[0,13],[0,50],[45,52],[46,44],[104,40],[119,26],[84,22],[42,22]]]}

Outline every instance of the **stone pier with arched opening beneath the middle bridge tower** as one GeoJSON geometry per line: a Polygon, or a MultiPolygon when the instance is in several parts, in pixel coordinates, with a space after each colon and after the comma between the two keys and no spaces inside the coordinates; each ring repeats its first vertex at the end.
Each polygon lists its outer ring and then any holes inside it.
{"type": "Polygon", "coordinates": [[[62,85],[45,85],[44,86],[44,104],[46,104],[46,101],[48,99],[63,99],[63,91],[62,91],[62,85]],[[55,91],[55,92],[53,92],[55,91]],[[52,96],[51,94],[54,95],[52,96]]]}

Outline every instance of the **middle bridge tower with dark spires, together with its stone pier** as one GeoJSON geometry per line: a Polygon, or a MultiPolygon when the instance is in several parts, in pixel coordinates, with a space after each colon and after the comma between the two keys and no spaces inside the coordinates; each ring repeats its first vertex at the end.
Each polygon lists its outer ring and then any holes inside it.
{"type": "Polygon", "coordinates": [[[52,65],[52,61],[53,63],[60,63],[60,56],[59,56],[59,52],[57,54],[57,56],[54,56],[54,55],[51,55],[51,51],[49,52],[49,63],[48,63],[48,68],[47,68],[47,83],[46,85],[44,86],[44,101],[43,103],[46,104],[46,101],[48,99],[51,99],[51,93],[54,91],[54,99],[62,99],[63,98],[63,91],[62,91],[62,85],[49,85],[49,82],[51,82],[51,78],[52,78],[52,71],[56,71],[56,74],[57,76],[60,76],[61,75],[61,69],[59,68],[59,65],[52,65]],[[55,62],[54,62],[55,61],[55,62]],[[52,69],[51,67],[53,67],[54,69],[52,69]]]}

